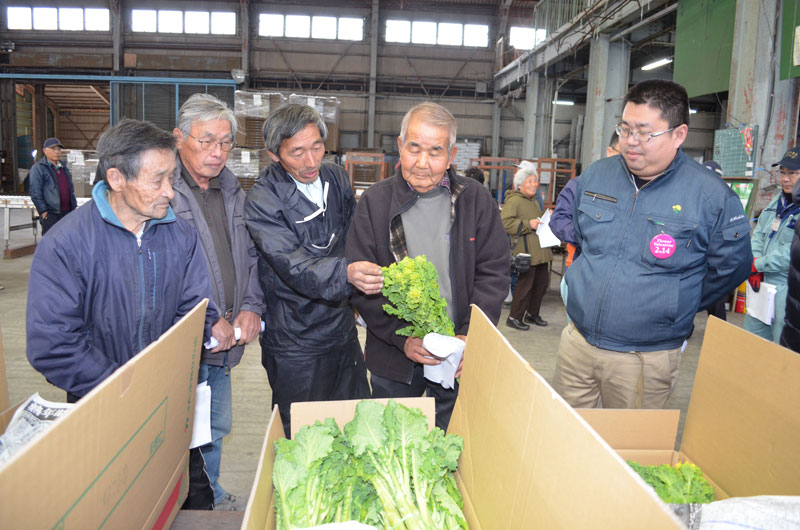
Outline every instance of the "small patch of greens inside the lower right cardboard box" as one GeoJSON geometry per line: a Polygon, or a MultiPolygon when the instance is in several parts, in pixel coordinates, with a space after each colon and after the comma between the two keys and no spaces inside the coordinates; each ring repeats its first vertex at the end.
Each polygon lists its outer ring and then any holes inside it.
{"type": "Polygon", "coordinates": [[[656,490],[664,502],[703,504],[714,500],[714,488],[703,477],[700,468],[690,462],[679,462],[675,467],[666,464],[643,466],[636,462],[628,464],[656,490]]]}

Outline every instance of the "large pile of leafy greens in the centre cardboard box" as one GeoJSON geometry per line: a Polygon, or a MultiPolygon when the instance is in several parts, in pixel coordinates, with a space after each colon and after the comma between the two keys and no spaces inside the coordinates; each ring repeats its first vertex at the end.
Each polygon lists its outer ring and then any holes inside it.
{"type": "Polygon", "coordinates": [[[467,528],[453,472],[464,440],[428,431],[419,409],[362,401],[340,431],[329,418],[275,442],[278,528],[358,521],[381,529],[467,528]]]}

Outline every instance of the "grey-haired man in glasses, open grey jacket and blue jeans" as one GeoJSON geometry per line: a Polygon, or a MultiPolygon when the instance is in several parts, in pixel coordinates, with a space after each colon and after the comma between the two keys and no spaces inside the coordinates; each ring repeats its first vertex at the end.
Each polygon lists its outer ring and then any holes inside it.
{"type": "Polygon", "coordinates": [[[214,509],[241,511],[246,499],[219,483],[222,439],[232,425],[230,369],[241,361],[245,344],[261,332],[264,294],[258,282],[258,254],[244,224],[244,191],[225,166],[236,118],[214,96],[194,94],[178,111],[172,134],[178,147],[172,208],[197,230],[214,303],[222,315],[211,330],[219,346],[204,348],[200,361],[198,380],[211,387],[212,438],[200,452],[214,489],[214,509]]]}

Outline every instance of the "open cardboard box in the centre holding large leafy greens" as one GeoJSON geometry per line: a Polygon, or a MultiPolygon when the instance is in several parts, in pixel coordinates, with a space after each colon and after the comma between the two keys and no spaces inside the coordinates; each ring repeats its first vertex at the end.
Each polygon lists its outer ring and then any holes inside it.
{"type": "MultiPolygon", "coordinates": [[[[683,528],[655,492],[517,354],[476,307],[449,432],[464,437],[456,481],[473,530],[683,528]]],[[[333,403],[333,404],[332,404],[333,403]]],[[[293,428],[330,416],[306,403],[293,428]]],[[[431,418],[430,412],[429,419],[431,418]]],[[[352,416],[352,413],[351,413],[352,416]]],[[[337,421],[344,423],[340,416],[337,421]]],[[[275,528],[272,465],[283,437],[267,427],[242,528],[275,528]]]]}

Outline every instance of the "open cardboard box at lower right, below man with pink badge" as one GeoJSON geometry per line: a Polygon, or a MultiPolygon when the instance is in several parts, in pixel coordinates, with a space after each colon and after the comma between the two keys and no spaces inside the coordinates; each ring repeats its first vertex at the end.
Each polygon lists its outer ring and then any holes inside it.
{"type": "Polygon", "coordinates": [[[800,495],[800,355],[710,318],[680,449],[677,410],[582,410],[619,454],[641,464],[690,461],[715,498],[800,495]]]}

